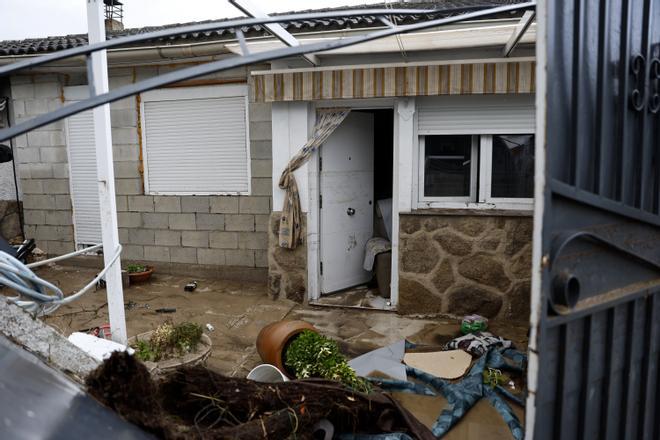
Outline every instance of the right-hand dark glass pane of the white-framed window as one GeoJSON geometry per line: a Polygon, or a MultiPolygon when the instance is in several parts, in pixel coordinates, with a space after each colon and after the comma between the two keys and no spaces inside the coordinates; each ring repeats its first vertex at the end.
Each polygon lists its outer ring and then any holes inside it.
{"type": "Polygon", "coordinates": [[[493,136],[491,197],[534,197],[534,135],[493,136]]]}

